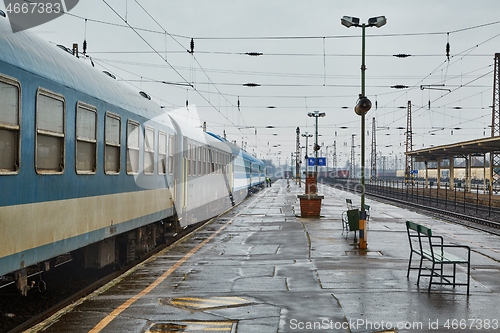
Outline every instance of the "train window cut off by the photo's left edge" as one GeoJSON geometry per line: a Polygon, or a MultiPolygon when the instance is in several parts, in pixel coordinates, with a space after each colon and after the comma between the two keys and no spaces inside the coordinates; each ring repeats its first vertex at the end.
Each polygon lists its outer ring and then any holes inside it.
{"type": "Polygon", "coordinates": [[[19,171],[21,85],[0,76],[0,174],[19,171]]]}

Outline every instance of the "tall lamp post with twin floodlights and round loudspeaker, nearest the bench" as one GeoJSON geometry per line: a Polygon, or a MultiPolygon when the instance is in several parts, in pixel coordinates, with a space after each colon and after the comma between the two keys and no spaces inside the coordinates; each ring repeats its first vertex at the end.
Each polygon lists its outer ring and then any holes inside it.
{"type": "Polygon", "coordinates": [[[368,24],[359,23],[359,18],[344,16],[340,23],[347,27],[361,27],[361,94],[354,107],[357,115],[361,116],[361,213],[359,216],[359,248],[366,249],[366,211],[365,211],[365,114],[371,109],[372,103],[365,95],[365,28],[380,28],[387,23],[385,16],[377,16],[368,19],[368,24]]]}

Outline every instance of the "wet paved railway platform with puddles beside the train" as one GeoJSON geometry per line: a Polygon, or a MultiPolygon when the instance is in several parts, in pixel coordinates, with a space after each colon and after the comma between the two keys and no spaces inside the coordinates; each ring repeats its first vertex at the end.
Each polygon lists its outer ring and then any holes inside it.
{"type": "MultiPolygon", "coordinates": [[[[342,235],[346,200],[320,186],[321,217],[301,218],[304,187],[279,180],[231,212],[33,328],[40,332],[495,332],[498,236],[371,200],[368,249],[342,235]],[[406,277],[405,222],[472,249],[465,287],[406,277]]],[[[459,276],[464,274],[459,268],[459,276]]]]}

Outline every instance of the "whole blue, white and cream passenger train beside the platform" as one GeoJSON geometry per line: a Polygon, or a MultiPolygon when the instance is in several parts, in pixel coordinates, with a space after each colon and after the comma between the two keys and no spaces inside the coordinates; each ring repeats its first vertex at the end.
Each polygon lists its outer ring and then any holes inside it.
{"type": "Polygon", "coordinates": [[[265,184],[262,161],[0,17],[0,280],[135,260],[265,184]]]}

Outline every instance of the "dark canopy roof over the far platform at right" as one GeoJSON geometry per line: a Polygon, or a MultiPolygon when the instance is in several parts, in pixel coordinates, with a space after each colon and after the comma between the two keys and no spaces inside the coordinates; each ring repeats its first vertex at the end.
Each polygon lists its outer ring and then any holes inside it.
{"type": "Polygon", "coordinates": [[[484,155],[494,151],[500,151],[500,136],[413,150],[406,153],[406,155],[415,158],[417,162],[425,162],[437,161],[440,158],[484,155]]]}

